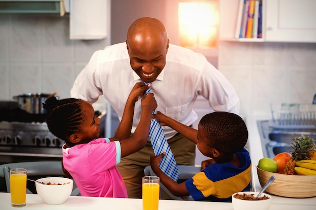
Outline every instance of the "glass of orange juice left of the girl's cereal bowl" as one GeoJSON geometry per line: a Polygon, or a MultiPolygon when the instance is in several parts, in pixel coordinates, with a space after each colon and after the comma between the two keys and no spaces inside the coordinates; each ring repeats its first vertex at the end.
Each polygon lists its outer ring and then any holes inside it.
{"type": "Polygon", "coordinates": [[[26,172],[24,168],[10,169],[11,205],[23,207],[26,201],[26,172]]]}

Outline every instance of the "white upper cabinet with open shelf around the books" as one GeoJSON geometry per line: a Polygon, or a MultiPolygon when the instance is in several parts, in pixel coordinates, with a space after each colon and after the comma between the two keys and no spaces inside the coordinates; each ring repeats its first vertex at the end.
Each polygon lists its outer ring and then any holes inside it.
{"type": "Polygon", "coordinates": [[[262,0],[261,38],[237,37],[240,27],[239,8],[248,0],[239,1],[220,0],[220,40],[316,42],[316,14],[313,11],[316,9],[315,0],[262,0]]]}

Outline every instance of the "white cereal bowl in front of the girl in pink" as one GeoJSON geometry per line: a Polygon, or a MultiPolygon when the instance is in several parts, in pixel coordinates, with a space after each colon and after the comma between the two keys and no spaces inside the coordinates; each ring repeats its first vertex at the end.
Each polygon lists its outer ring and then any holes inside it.
{"type": "Polygon", "coordinates": [[[46,203],[58,205],[64,203],[70,196],[73,188],[73,180],[64,177],[46,177],[37,179],[35,187],[39,197],[46,203]],[[47,184],[49,183],[50,184],[47,184]]]}

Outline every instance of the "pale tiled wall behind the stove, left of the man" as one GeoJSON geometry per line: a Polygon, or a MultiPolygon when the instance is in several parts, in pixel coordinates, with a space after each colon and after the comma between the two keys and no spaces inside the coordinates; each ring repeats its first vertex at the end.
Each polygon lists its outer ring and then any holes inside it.
{"type": "Polygon", "coordinates": [[[92,53],[109,40],[70,40],[69,17],[0,15],[0,100],[22,93],[70,97],[92,53]]]}

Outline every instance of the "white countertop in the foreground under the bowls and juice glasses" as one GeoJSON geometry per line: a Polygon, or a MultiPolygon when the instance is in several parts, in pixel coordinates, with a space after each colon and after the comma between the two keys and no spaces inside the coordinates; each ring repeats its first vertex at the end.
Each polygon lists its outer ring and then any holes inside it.
{"type": "MultiPolygon", "coordinates": [[[[272,200],[273,201],[273,200],[272,200]]],[[[11,206],[10,193],[0,193],[0,209],[9,210],[17,209],[11,206]]],[[[26,206],[21,209],[47,209],[47,210],[71,210],[71,209],[114,209],[114,210],[141,210],[142,200],[136,198],[105,198],[105,197],[83,197],[83,196],[70,196],[65,203],[60,205],[45,204],[37,194],[27,194],[26,206]]],[[[160,210],[233,210],[232,203],[224,202],[203,202],[203,201],[187,201],[187,200],[159,200],[160,210]]],[[[314,210],[315,206],[312,205],[292,205],[292,204],[277,204],[272,202],[269,210],[314,210]]]]}

